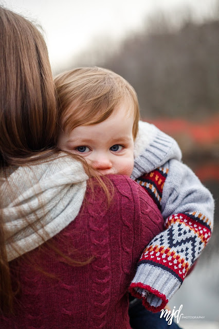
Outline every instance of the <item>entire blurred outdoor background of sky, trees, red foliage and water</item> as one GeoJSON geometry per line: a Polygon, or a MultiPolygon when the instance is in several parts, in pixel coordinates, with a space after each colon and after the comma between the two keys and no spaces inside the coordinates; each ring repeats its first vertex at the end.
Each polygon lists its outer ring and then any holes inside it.
{"type": "Polygon", "coordinates": [[[136,89],[142,120],[179,143],[183,161],[212,192],[209,245],[170,302],[184,328],[218,328],[219,1],[8,0],[43,28],[53,74],[77,66],[114,70],[136,89]]]}

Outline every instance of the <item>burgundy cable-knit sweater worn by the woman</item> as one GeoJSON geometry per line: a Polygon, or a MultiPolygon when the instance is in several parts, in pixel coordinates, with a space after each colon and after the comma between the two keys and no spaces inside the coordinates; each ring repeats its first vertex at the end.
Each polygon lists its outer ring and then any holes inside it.
{"type": "Polygon", "coordinates": [[[45,244],[10,263],[20,282],[15,315],[0,316],[1,329],[130,329],[127,288],[142,250],[163,230],[150,196],[126,176],[112,176],[109,207],[100,188],[87,189],[79,215],[49,242],[75,260],[66,264],[45,244]],[[49,278],[30,261],[52,273],[49,278]]]}

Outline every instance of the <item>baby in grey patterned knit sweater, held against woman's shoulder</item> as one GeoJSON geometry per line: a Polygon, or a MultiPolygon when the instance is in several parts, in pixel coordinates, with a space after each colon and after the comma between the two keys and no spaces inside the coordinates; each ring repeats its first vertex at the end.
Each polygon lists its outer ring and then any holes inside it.
{"type": "Polygon", "coordinates": [[[61,113],[58,145],[100,174],[131,176],[153,198],[165,231],[143,251],[130,292],[158,312],[179,288],[209,241],[211,193],[181,162],[176,141],[139,121],[133,87],[114,72],[84,67],[54,80],[61,113]]]}

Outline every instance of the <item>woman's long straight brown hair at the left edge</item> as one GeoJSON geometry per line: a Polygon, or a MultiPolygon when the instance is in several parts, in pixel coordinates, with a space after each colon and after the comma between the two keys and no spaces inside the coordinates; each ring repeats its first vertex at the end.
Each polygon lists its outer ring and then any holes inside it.
{"type": "MultiPolygon", "coordinates": [[[[0,7],[0,172],[56,151],[57,106],[48,52],[39,30],[0,7]],[[44,152],[42,152],[44,151],[44,152]]],[[[0,199],[1,199],[0,195],[0,199]]],[[[1,213],[0,213],[1,216],[1,213]]],[[[12,309],[13,292],[0,218],[0,308],[12,309]]]]}

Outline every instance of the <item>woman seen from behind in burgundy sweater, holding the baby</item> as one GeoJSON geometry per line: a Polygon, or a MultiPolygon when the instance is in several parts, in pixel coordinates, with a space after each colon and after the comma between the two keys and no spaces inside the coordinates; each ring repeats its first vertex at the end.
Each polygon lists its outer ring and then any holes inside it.
{"type": "Polygon", "coordinates": [[[0,327],[131,328],[126,291],[161,215],[130,178],[88,180],[59,152],[45,42],[4,8],[0,29],[0,327]]]}

